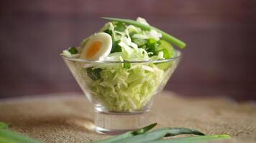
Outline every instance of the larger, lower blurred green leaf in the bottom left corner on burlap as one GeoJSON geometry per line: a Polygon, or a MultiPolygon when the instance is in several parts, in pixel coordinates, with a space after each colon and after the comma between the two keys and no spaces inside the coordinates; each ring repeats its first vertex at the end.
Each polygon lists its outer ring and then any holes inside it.
{"type": "Polygon", "coordinates": [[[39,143],[39,141],[7,129],[0,129],[0,143],[39,143]]]}

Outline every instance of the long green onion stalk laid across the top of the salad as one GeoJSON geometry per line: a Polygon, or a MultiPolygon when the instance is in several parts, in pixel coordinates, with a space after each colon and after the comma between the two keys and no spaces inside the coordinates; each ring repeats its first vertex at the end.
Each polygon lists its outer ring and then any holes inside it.
{"type": "Polygon", "coordinates": [[[155,28],[154,26],[147,26],[138,21],[134,21],[134,20],[130,20],[130,19],[117,19],[117,18],[111,18],[111,17],[103,17],[103,19],[108,19],[111,21],[118,21],[118,22],[122,22],[124,24],[131,24],[131,25],[140,27],[143,30],[148,30],[148,31],[150,29],[154,29],[155,31],[158,31],[162,34],[163,39],[170,41],[170,43],[173,43],[176,46],[179,46],[181,49],[183,49],[186,46],[186,44],[183,41],[180,41],[179,39],[175,38],[174,36],[171,36],[170,34],[167,34],[164,31],[161,31],[160,29],[155,28]]]}

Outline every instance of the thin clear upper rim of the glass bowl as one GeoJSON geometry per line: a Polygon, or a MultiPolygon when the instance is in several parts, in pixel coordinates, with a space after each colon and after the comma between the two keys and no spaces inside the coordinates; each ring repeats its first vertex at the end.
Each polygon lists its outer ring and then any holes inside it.
{"type": "Polygon", "coordinates": [[[160,62],[168,62],[168,61],[175,61],[177,59],[180,59],[182,57],[182,53],[180,50],[175,49],[175,51],[177,51],[178,56],[175,56],[173,58],[170,59],[157,59],[157,60],[147,60],[147,61],[100,61],[100,60],[89,60],[89,59],[81,59],[81,58],[72,58],[72,57],[66,57],[60,54],[60,56],[63,57],[63,59],[68,59],[69,61],[81,61],[81,62],[87,62],[87,63],[97,63],[97,64],[122,64],[122,63],[160,63],[160,62]]]}

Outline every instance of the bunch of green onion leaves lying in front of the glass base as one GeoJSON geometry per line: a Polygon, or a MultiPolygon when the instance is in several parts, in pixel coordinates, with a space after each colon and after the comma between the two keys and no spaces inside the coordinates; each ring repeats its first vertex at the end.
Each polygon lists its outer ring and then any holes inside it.
{"type": "Polygon", "coordinates": [[[162,128],[157,129],[151,132],[147,132],[153,127],[155,124],[150,124],[147,127],[142,129],[138,129],[135,132],[127,132],[121,134],[116,137],[111,137],[108,139],[103,139],[100,141],[96,141],[93,143],[198,143],[198,142],[208,142],[216,139],[229,139],[231,138],[227,134],[220,135],[204,135],[204,133],[198,132],[194,129],[187,128],[162,128]],[[180,134],[195,134],[198,136],[194,137],[182,137],[182,138],[174,138],[174,139],[165,139],[165,137],[172,137],[180,134]]]}

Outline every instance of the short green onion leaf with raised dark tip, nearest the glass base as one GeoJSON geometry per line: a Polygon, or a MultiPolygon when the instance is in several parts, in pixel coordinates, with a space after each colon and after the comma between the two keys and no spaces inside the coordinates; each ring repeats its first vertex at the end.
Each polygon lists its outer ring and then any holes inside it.
{"type": "Polygon", "coordinates": [[[110,137],[108,139],[103,139],[100,141],[96,141],[93,143],[111,143],[111,142],[119,142],[122,139],[126,139],[127,137],[134,137],[138,134],[144,134],[145,132],[148,132],[150,129],[155,127],[157,123],[150,124],[147,127],[142,127],[141,129],[138,129],[137,131],[132,131],[132,132],[126,132],[124,134],[120,134],[119,136],[116,137],[110,137]]]}

